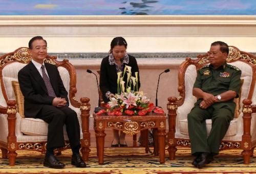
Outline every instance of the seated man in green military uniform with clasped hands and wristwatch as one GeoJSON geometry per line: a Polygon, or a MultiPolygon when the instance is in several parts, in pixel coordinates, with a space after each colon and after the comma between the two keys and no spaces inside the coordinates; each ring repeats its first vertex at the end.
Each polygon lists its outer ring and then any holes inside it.
{"type": "Polygon", "coordinates": [[[191,154],[196,156],[192,164],[198,168],[210,163],[213,156],[219,154],[220,142],[234,116],[236,104],[233,98],[239,96],[241,70],[227,64],[227,56],[226,43],[212,43],[208,52],[210,65],[197,72],[193,95],[198,101],[187,119],[191,154]],[[212,120],[208,137],[206,119],[212,120]]]}

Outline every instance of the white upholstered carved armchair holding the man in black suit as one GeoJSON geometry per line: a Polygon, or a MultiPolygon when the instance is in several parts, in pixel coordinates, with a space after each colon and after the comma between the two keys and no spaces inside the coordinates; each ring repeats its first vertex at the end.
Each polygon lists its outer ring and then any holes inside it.
{"type": "MultiPolygon", "coordinates": [[[[18,48],[0,58],[0,147],[2,157],[9,158],[9,165],[15,165],[17,150],[46,152],[48,123],[24,116],[24,98],[18,85],[18,71],[30,61],[31,55],[27,47],[18,48]]],[[[90,100],[86,97],[81,98],[81,103],[76,100],[76,72],[68,60],[57,61],[56,57],[47,56],[45,61],[58,67],[69,93],[70,108],[77,112],[80,123],[82,158],[88,161],[90,100]]],[[[55,150],[56,153],[70,148],[66,129],[63,131],[66,147],[55,150]]]]}

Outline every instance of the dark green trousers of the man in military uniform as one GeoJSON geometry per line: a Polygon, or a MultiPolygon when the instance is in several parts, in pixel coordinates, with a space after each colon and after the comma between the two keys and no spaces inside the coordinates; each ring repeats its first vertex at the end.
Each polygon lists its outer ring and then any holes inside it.
{"type": "Polygon", "coordinates": [[[225,136],[232,119],[233,113],[227,108],[215,109],[210,106],[207,109],[202,109],[195,106],[187,115],[191,154],[197,155],[201,152],[219,154],[221,140],[225,136]],[[205,119],[212,120],[208,137],[205,119]]]}

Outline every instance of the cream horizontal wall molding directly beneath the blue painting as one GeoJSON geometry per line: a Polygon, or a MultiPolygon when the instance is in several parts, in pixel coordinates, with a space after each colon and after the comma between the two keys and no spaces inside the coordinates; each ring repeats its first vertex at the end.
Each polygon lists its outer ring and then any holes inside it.
{"type": "Polygon", "coordinates": [[[146,16],[123,16],[123,15],[72,15],[72,16],[0,16],[0,25],[180,25],[180,24],[210,24],[210,25],[244,25],[256,24],[254,15],[146,15],[146,16]]]}

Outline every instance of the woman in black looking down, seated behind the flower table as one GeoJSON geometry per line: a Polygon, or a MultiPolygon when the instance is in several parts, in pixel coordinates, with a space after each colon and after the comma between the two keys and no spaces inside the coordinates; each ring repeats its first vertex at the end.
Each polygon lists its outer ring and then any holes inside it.
{"type": "MultiPolygon", "coordinates": [[[[122,37],[115,37],[111,41],[111,48],[109,56],[102,59],[100,66],[100,83],[99,87],[102,92],[102,98],[104,103],[108,103],[109,97],[114,96],[117,93],[117,72],[123,71],[125,65],[131,66],[132,76],[135,77],[135,72],[138,72],[138,88],[140,87],[139,81],[139,68],[136,59],[126,53],[127,42],[122,37]]],[[[125,74],[126,76],[126,74],[125,74]]],[[[126,77],[123,77],[123,81],[126,82],[126,77]]],[[[124,147],[125,134],[118,130],[113,130],[114,139],[112,141],[112,147],[124,147]]]]}

